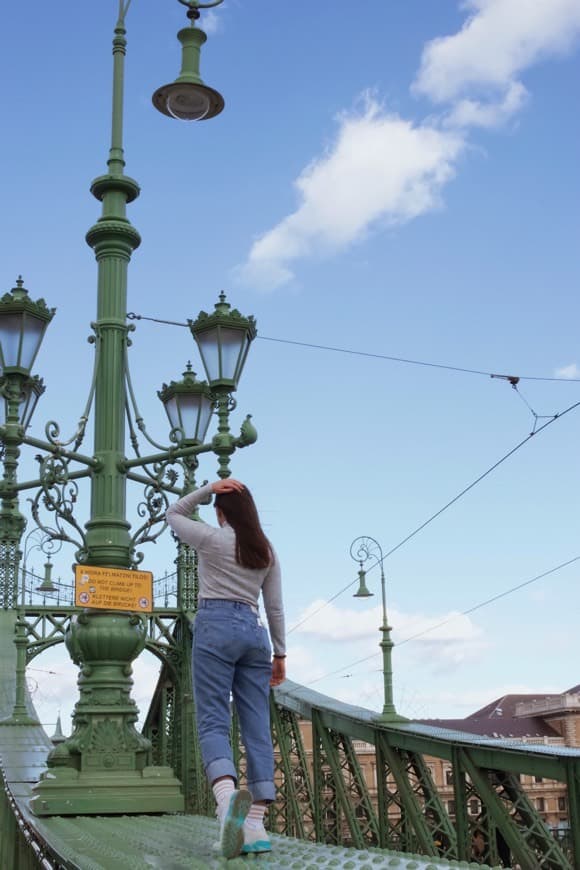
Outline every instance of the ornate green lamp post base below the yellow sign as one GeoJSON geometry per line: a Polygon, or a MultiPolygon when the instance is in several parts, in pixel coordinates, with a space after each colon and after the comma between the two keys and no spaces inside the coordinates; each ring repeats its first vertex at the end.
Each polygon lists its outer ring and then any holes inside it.
{"type": "Polygon", "coordinates": [[[72,735],[51,750],[33,787],[37,816],[183,812],[179,780],[169,767],[146,765],[151,743],[135,729],[131,662],[146,637],[143,620],[128,613],[85,611],[70,625],[80,700],[72,735]]]}

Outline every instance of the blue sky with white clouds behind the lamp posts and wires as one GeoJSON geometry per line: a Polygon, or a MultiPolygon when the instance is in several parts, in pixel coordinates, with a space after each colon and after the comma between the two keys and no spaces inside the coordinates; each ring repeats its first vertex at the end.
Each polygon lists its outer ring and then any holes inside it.
{"type": "MultiPolygon", "coordinates": [[[[114,0],[6,13],[2,280],[22,273],[58,309],[37,360],[39,434],[53,418],[72,432],[90,383],[84,234],[109,145],[115,15],[114,0]]],[[[356,577],[350,542],[390,550],[524,439],[522,396],[539,417],[580,400],[580,2],[227,0],[202,20],[202,75],[226,108],[201,124],[150,103],[177,75],[183,21],[152,0],[127,20],[125,152],[142,187],[129,213],[143,236],[129,310],[184,321],[225,289],[259,336],[560,378],[522,380],[518,396],[485,375],[254,342],[233,424],[252,413],[259,440],[232,468],[280,554],[289,627],[302,623],[289,676],[378,709],[380,657],[352,666],[378,651],[378,572],[374,599],[353,587],[320,609],[356,577]]],[[[156,391],[188,359],[199,372],[187,330],[138,324],[132,377],[159,440],[156,391]]],[[[385,561],[400,712],[464,716],[578,683],[580,563],[461,614],[580,554],[579,426],[580,409],[557,420],[385,561]]],[[[200,478],[213,477],[206,458],[200,478]]],[[[166,538],[144,567],[173,558],[166,538]]],[[[59,652],[36,664],[55,672],[30,672],[41,717],[61,708],[67,730],[72,666],[59,652]]],[[[137,664],[142,704],[154,670],[137,664]]]]}

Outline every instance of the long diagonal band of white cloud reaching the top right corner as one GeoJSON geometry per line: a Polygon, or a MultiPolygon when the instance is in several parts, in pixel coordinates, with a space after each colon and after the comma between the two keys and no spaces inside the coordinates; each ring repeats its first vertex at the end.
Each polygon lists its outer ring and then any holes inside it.
{"type": "Polygon", "coordinates": [[[414,124],[368,94],[363,109],[339,117],[334,144],[294,182],[299,204],[260,236],[234,280],[274,289],[305,257],[344,250],[377,227],[436,208],[466,146],[468,128],[512,118],[528,92],[518,75],[571,48],[580,35],[580,0],[467,0],[455,34],[423,50],[413,90],[448,104],[438,120],[414,124]]]}

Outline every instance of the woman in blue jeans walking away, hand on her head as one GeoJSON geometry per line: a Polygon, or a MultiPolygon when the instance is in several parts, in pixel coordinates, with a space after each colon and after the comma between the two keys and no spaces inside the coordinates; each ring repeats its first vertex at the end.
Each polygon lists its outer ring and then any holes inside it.
{"type": "Polygon", "coordinates": [[[280,564],[250,491],[238,480],[218,480],[189,493],[168,508],[167,522],[199,559],[193,691],[203,763],[221,824],[222,854],[233,858],[240,851],[269,852],[264,813],[276,796],[269,694],[270,686],[286,679],[280,564]],[[219,528],[191,519],[212,493],[219,528]],[[260,591],[273,658],[258,611],[260,591]],[[230,693],[246,747],[249,791],[237,788],[229,740],[230,693]]]}

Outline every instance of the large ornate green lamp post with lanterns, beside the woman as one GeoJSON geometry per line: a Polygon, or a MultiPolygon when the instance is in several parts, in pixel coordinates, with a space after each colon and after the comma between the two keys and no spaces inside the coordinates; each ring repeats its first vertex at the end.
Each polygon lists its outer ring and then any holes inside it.
{"type": "MultiPolygon", "coordinates": [[[[239,436],[232,435],[229,429],[229,413],[235,407],[231,393],[238,386],[255,335],[255,322],[230,310],[225,297],[220,297],[212,315],[202,312],[192,325],[196,341],[203,348],[209,384],[196,381],[188,365],[181,381],[165,384],[159,393],[171,425],[168,446],[157,444],[149,436],[136,404],[127,362],[129,333],[134,329],[127,323],[127,272],[141,238],[126,211],[140,190],[137,182],[125,174],[123,149],[125,17],[130,2],[120,0],[114,29],[107,172],[91,185],[91,192],[102,203],[102,212],[86,235],[98,264],[97,319],[92,324],[94,374],[86,408],[68,440],[55,422],[47,424],[44,439],[27,432],[34,405],[44,389],[42,381],[31,376],[31,368],[54,310],[47,308],[43,300],[32,302],[21,278],[0,299],[0,390],[5,400],[0,401],[0,406],[4,405],[4,419],[0,420],[0,607],[6,609],[18,604],[20,542],[26,525],[19,510],[20,492],[33,493],[29,501],[36,526],[53,540],[74,544],[76,562],[86,571],[93,570],[99,577],[103,573],[122,576],[123,582],[131,584],[131,571],[143,558],[138,547],[155,541],[166,528],[166,523],[160,521],[164,520],[169,496],[181,495],[193,487],[198,456],[213,452],[218,457],[218,474],[227,477],[230,456],[257,437],[249,416],[239,436]],[[218,431],[206,442],[214,407],[218,431]],[[90,416],[94,420],[94,439],[88,455],[80,448],[90,416]],[[157,452],[143,455],[137,430],[157,452]],[[125,455],[127,436],[136,454],[130,459],[125,455]],[[35,480],[17,479],[23,444],[36,451],[39,472],[35,480]],[[180,474],[182,486],[177,485],[180,474]],[[75,516],[78,482],[82,480],[90,482],[90,517],[84,526],[75,516]],[[142,485],[145,493],[137,508],[145,521],[136,530],[127,519],[129,481],[142,485]],[[43,521],[47,512],[50,525],[43,521]]],[[[173,84],[158,89],[153,102],[159,111],[174,118],[207,119],[221,111],[223,99],[199,76],[199,53],[206,35],[196,21],[200,9],[217,6],[223,0],[180,2],[186,6],[189,19],[189,25],[178,34],[182,44],[181,74],[173,84]]],[[[50,570],[49,562],[42,592],[52,585],[50,570]]],[[[141,598],[143,601],[149,603],[146,597],[141,598]]],[[[16,623],[22,677],[18,712],[24,703],[22,662],[27,641],[23,616],[21,611],[16,623]]],[[[182,618],[185,622],[184,608],[182,618]]],[[[186,634],[185,625],[181,633],[186,634]]],[[[130,694],[131,663],[146,642],[147,623],[141,611],[99,609],[95,605],[71,619],[65,644],[80,667],[80,697],[73,713],[72,735],[49,753],[48,771],[34,786],[30,808],[37,815],[183,811],[184,796],[173,770],[148,765],[151,742],[135,728],[139,711],[130,694]]],[[[4,724],[21,723],[16,716],[4,724]]]]}

